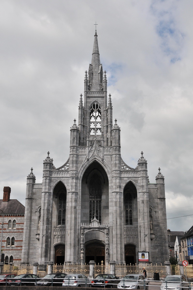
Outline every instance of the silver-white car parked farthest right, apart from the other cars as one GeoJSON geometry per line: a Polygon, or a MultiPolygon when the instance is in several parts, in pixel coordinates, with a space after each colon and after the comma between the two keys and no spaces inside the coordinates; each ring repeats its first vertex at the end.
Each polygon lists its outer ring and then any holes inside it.
{"type": "Polygon", "coordinates": [[[186,290],[188,287],[188,281],[183,275],[168,275],[163,280],[160,290],[166,289],[178,289],[186,290]]]}

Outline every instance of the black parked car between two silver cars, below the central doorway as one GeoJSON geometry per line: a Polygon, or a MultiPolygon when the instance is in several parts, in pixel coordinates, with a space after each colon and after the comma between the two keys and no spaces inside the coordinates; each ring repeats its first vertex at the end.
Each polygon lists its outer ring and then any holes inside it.
{"type": "Polygon", "coordinates": [[[99,274],[91,281],[91,287],[117,288],[120,280],[112,274],[99,274]]]}

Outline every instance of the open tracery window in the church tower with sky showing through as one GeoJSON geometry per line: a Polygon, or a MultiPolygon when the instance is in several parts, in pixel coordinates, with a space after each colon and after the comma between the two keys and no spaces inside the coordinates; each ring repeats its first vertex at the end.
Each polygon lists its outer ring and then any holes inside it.
{"type": "Polygon", "coordinates": [[[90,135],[101,135],[101,108],[97,102],[90,109],[90,135]]]}

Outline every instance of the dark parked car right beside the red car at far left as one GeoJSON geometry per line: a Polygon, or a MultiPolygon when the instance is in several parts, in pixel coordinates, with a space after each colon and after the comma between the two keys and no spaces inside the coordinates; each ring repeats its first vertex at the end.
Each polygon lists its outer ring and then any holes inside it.
{"type": "Polygon", "coordinates": [[[35,274],[21,274],[17,275],[12,279],[7,281],[8,285],[22,285],[22,286],[33,286],[34,283],[40,280],[40,278],[35,274]]]}

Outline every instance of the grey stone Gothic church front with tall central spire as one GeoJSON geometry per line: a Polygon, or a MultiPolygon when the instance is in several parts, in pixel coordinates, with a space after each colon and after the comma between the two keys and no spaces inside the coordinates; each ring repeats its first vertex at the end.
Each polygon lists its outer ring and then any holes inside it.
{"type": "Polygon", "coordinates": [[[100,63],[97,34],[85,72],[84,102],[78,125],[70,128],[67,162],[43,162],[43,182],[27,177],[22,262],[138,263],[168,260],[164,176],[148,180],[141,153],[136,168],[121,158],[120,128],[113,125],[106,71],[100,63]]]}

